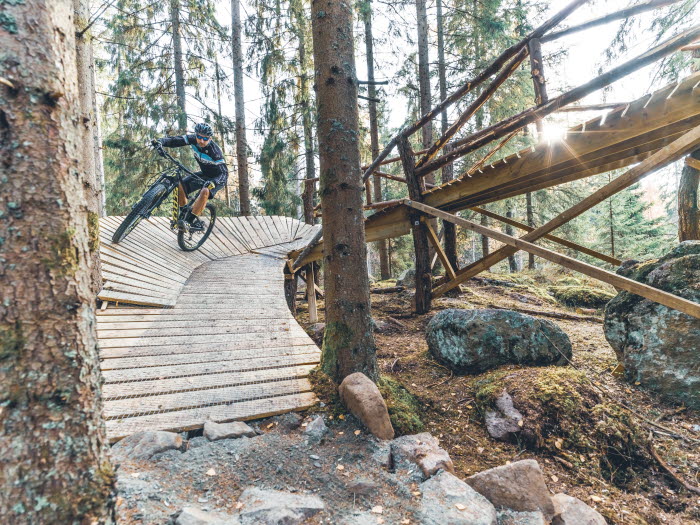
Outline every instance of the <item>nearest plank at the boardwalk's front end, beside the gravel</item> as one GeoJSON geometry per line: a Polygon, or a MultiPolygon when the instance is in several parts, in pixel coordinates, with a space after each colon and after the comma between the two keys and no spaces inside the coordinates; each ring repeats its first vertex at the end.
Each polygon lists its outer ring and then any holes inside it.
{"type": "Polygon", "coordinates": [[[114,442],[142,430],[192,430],[203,426],[204,421],[207,420],[223,423],[259,419],[292,410],[304,410],[316,402],[317,399],[313,393],[304,392],[269,399],[182,410],[175,413],[113,419],[106,422],[107,436],[110,442],[114,442]]]}

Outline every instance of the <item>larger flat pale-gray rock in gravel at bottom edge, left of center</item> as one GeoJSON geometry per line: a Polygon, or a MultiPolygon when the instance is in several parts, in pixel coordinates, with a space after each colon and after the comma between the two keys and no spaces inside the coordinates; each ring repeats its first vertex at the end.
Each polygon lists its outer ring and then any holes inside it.
{"type": "Polygon", "coordinates": [[[243,525],[296,525],[325,509],[317,496],[248,488],[238,503],[243,525]]]}

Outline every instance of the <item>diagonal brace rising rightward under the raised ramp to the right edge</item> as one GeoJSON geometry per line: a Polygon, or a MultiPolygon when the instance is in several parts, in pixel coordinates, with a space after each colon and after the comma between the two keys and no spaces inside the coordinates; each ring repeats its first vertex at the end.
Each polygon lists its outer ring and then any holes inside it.
{"type": "MultiPolygon", "coordinates": [[[[700,144],[700,126],[689,131],[681,138],[662,148],[660,151],[657,151],[648,159],[636,165],[634,168],[629,169],[624,174],[592,193],[578,204],[560,213],[543,226],[540,226],[539,228],[526,234],[522,237],[522,240],[528,242],[535,241],[542,236],[551,233],[553,230],[559,228],[563,224],[566,224],[575,217],[578,217],[583,212],[593,208],[608,197],[630,187],[632,184],[643,179],[650,173],[653,173],[659,168],[678,160],[688,152],[693,151],[697,148],[698,144],[700,144]]],[[[458,284],[466,281],[478,273],[481,273],[484,269],[493,266],[515,252],[517,252],[517,249],[513,249],[510,246],[505,246],[489,254],[487,257],[484,257],[483,259],[462,268],[457,272],[456,279],[436,288],[433,291],[434,296],[439,297],[458,284]]]]}

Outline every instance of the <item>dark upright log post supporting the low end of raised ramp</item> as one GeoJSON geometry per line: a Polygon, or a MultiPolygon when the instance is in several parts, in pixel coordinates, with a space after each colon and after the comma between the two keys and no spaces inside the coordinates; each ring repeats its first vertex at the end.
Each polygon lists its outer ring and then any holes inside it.
{"type": "MultiPolygon", "coordinates": [[[[401,137],[399,139],[398,149],[406,176],[408,194],[411,199],[420,202],[423,200],[422,181],[416,177],[415,158],[407,138],[401,137]]],[[[432,275],[430,273],[428,227],[420,220],[420,217],[420,213],[409,214],[416,259],[416,313],[424,314],[430,310],[432,301],[432,275]]]]}

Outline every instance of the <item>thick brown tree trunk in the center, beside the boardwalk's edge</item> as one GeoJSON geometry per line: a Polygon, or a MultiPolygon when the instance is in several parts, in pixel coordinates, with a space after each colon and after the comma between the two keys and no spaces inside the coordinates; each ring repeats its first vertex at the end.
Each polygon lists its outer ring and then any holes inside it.
{"type": "Polygon", "coordinates": [[[321,367],[338,382],[353,372],[378,379],[362,215],[352,18],[352,4],[311,4],[326,294],[321,367]]]}

